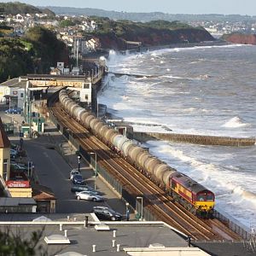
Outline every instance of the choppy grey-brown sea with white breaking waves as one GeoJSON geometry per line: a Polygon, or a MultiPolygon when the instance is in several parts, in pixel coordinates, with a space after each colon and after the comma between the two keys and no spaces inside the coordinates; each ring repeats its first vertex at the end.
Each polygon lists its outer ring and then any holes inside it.
{"type": "MultiPolygon", "coordinates": [[[[256,137],[256,46],[110,52],[99,95],[135,131],[256,137]],[[152,77],[147,77],[152,76],[152,77]],[[156,126],[150,126],[154,124],[156,126]]],[[[150,152],[211,189],[216,208],[256,227],[256,146],[244,148],[148,142],[150,152]]]]}

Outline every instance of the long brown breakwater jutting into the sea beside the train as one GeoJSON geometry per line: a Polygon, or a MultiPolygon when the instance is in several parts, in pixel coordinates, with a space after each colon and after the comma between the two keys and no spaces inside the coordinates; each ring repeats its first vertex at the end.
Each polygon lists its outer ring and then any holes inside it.
{"type": "Polygon", "coordinates": [[[256,138],[240,137],[215,137],[193,134],[177,133],[159,133],[159,132],[133,132],[133,138],[146,142],[148,140],[165,140],[177,143],[194,143],[201,145],[218,145],[218,146],[253,146],[256,144],[256,138]]]}

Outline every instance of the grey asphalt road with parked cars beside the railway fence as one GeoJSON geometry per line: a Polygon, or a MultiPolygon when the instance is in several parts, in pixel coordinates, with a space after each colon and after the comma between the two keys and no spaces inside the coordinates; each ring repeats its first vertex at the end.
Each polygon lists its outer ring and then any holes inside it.
{"type": "MultiPolygon", "coordinates": [[[[29,158],[33,161],[39,183],[49,187],[55,193],[57,213],[88,213],[94,206],[110,206],[125,214],[124,202],[119,200],[99,178],[97,178],[96,189],[101,190],[108,200],[105,202],[77,201],[70,191],[72,183],[68,178],[72,167],[55,149],[46,148],[42,139],[26,140],[24,146],[29,158]]],[[[81,174],[86,183],[93,187],[94,178],[91,177],[93,172],[85,166],[84,162],[81,163],[81,174]]]]}

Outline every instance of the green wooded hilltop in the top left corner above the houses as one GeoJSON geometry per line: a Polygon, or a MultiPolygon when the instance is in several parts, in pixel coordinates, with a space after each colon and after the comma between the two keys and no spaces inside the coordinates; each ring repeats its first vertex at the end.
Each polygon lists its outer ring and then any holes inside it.
{"type": "Polygon", "coordinates": [[[20,2],[0,3],[0,13],[5,15],[23,15],[23,14],[47,14],[55,15],[55,13],[49,9],[38,9],[30,4],[20,2]]]}

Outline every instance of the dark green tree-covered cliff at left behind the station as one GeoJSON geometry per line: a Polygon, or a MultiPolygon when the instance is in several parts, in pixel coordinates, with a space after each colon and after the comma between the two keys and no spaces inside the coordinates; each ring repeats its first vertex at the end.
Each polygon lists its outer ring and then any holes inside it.
{"type": "Polygon", "coordinates": [[[35,26],[25,38],[0,38],[0,82],[27,73],[48,73],[57,61],[68,61],[66,45],[46,28],[35,26]]]}

